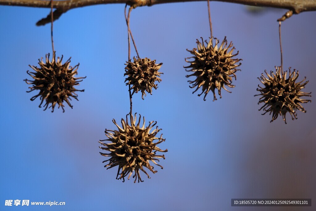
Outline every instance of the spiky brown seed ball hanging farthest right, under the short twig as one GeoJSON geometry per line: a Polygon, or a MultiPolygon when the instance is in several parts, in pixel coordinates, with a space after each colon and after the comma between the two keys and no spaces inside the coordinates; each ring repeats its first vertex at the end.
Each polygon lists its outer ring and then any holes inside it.
{"type": "Polygon", "coordinates": [[[287,71],[283,72],[281,67],[275,67],[276,73],[270,71],[270,74],[267,71],[264,71],[267,75],[267,78],[261,74],[261,77],[258,78],[259,81],[264,85],[261,87],[258,85],[257,91],[261,93],[255,96],[260,96],[259,103],[264,103],[264,105],[259,109],[263,109],[265,112],[262,114],[266,114],[267,112],[272,113],[272,121],[276,120],[278,115],[282,115],[283,120],[286,124],[285,115],[287,112],[290,113],[292,120],[297,119],[296,110],[300,110],[302,112],[306,112],[306,110],[302,107],[301,103],[311,102],[311,100],[305,100],[301,97],[303,96],[311,96],[310,93],[302,92],[301,89],[308,83],[306,77],[295,83],[298,78],[298,71],[291,72],[291,68],[289,68],[289,78],[286,79],[287,71]],[[304,82],[304,83],[303,83],[304,82]]]}

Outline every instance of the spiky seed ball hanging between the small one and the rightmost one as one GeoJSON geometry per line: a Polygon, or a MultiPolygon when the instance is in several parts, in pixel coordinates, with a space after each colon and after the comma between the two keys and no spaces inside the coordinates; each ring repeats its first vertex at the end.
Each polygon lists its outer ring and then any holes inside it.
{"type": "MultiPolygon", "coordinates": [[[[228,91],[224,85],[228,87],[235,87],[232,85],[232,77],[234,76],[236,80],[235,72],[240,70],[236,69],[236,67],[240,66],[241,63],[236,64],[242,59],[232,59],[234,56],[237,56],[239,52],[233,54],[235,47],[233,47],[233,43],[227,46],[226,37],[222,41],[220,47],[217,47],[219,40],[215,39],[215,46],[213,46],[212,38],[207,42],[205,40],[206,46],[204,45],[203,38],[201,37],[202,42],[197,40],[197,49],[193,48],[192,51],[186,49],[188,52],[193,54],[192,57],[188,57],[185,59],[186,62],[190,63],[189,66],[184,68],[191,68],[190,70],[186,70],[188,72],[193,72],[191,75],[187,75],[186,77],[194,76],[196,79],[194,81],[188,81],[190,84],[190,88],[197,87],[196,92],[200,87],[202,87],[202,92],[198,96],[201,96],[204,92],[204,101],[206,95],[211,90],[214,95],[214,100],[217,100],[215,95],[215,89],[218,90],[219,96],[221,95],[221,88],[228,91]],[[231,50],[229,48],[233,47],[231,50]],[[188,61],[187,59],[193,58],[193,61],[188,61]]],[[[231,93],[231,91],[228,91],[231,93]]]]}

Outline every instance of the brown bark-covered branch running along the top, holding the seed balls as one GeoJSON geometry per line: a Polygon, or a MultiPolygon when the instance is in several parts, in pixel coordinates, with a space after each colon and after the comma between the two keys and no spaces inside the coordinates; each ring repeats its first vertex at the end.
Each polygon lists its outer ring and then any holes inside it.
{"type": "MultiPolygon", "coordinates": [[[[195,2],[203,0],[62,0],[54,1],[55,12],[61,14],[67,12],[69,9],[78,7],[85,7],[96,4],[112,4],[124,3],[136,8],[139,6],[151,6],[162,3],[176,3],[176,2],[195,2]]],[[[213,1],[213,0],[211,0],[213,1]]],[[[215,0],[219,2],[229,2],[245,4],[250,6],[274,7],[283,8],[292,11],[294,14],[299,14],[305,11],[316,11],[316,0],[215,0]]],[[[0,5],[9,6],[25,6],[25,7],[40,7],[50,8],[50,0],[0,0],[0,5]]],[[[59,17],[58,16],[58,17],[59,17]]],[[[45,25],[49,20],[43,18],[37,25],[45,25]]]]}

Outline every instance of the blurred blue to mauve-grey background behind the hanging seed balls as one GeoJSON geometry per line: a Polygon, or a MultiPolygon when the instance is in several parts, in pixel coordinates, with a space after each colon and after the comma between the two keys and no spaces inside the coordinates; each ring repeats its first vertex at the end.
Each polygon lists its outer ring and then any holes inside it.
{"type": "MultiPolygon", "coordinates": [[[[163,62],[162,82],[145,100],[133,96],[133,111],[157,121],[168,149],[164,169],[145,182],[115,180],[106,170],[98,140],[129,112],[124,83],[127,28],[124,5],[73,9],[54,24],[57,55],[80,62],[79,102],[66,112],[38,108],[26,93],[28,65],[51,53],[50,24],[35,23],[49,9],[0,6],[0,210],[313,210],[245,208],[231,198],[312,198],[316,196],[314,102],[298,120],[288,116],[270,123],[257,105],[257,77],[280,65],[278,23],[286,10],[253,15],[246,7],[211,3],[213,34],[227,36],[239,50],[242,71],[233,93],[207,101],[188,87],[185,49],[209,36],[206,2],[170,3],[137,8],[131,13],[141,57],[163,62]],[[5,200],[64,201],[65,206],[5,207],[5,200]]],[[[282,24],[283,64],[310,80],[316,93],[316,13],[294,15],[282,24]]],[[[135,52],[132,51],[132,56],[135,52]]]]}

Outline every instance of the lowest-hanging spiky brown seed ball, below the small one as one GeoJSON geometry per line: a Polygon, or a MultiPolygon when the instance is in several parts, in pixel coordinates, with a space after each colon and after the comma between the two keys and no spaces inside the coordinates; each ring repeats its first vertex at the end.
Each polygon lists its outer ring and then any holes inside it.
{"type": "Polygon", "coordinates": [[[149,161],[163,168],[161,165],[157,164],[156,161],[159,161],[157,158],[165,159],[164,155],[156,155],[156,152],[167,152],[168,150],[161,150],[157,147],[157,144],[165,141],[162,138],[162,134],[160,138],[155,137],[161,129],[154,129],[150,132],[150,130],[156,125],[157,122],[153,124],[154,121],[149,122],[149,126],[145,127],[145,118],[143,117],[143,126],[140,126],[141,116],[139,115],[138,123],[136,124],[136,113],[135,117],[131,117],[131,125],[129,125],[126,115],[126,121],[124,119],[121,120],[122,128],[116,124],[113,119],[113,123],[116,125],[118,130],[107,130],[105,129],[105,135],[108,137],[106,140],[100,140],[99,143],[104,147],[100,148],[102,150],[107,150],[110,153],[102,153],[101,155],[106,157],[111,157],[108,160],[103,161],[109,163],[104,167],[110,169],[112,167],[118,166],[118,173],[116,179],[123,179],[128,175],[128,179],[130,179],[132,173],[135,171],[133,178],[135,177],[136,182],[138,178],[138,182],[143,180],[140,177],[139,170],[143,171],[148,178],[148,173],[144,170],[144,167],[148,168],[151,172],[156,173],[154,171],[154,167],[149,164],[149,161]],[[111,133],[112,132],[112,133],[111,133]],[[158,140],[154,143],[155,140],[158,140]],[[105,144],[101,141],[110,141],[111,143],[105,144]]]}

